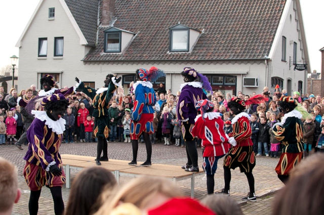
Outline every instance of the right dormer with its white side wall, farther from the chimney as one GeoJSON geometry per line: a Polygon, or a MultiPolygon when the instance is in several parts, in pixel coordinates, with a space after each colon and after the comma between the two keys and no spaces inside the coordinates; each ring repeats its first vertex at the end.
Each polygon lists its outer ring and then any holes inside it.
{"type": "Polygon", "coordinates": [[[178,24],[170,29],[170,52],[189,52],[200,32],[178,24]]]}

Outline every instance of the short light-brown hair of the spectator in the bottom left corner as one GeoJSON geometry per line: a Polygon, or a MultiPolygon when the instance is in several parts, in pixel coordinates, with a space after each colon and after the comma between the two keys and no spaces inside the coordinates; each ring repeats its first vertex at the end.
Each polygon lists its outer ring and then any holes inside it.
{"type": "Polygon", "coordinates": [[[9,210],[15,202],[18,191],[16,166],[0,157],[0,212],[9,210]]]}

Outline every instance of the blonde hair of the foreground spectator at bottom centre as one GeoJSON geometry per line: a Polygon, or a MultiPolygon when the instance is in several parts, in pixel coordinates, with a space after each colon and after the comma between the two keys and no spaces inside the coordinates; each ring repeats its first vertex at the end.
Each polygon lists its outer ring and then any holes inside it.
{"type": "MultiPolygon", "coordinates": [[[[163,194],[169,198],[182,196],[180,189],[167,179],[139,177],[123,187],[115,189],[114,194],[109,195],[109,198],[106,199],[95,215],[110,214],[119,202],[132,203],[142,209],[157,194],[163,194]]],[[[105,193],[102,195],[105,195],[105,193]]]]}

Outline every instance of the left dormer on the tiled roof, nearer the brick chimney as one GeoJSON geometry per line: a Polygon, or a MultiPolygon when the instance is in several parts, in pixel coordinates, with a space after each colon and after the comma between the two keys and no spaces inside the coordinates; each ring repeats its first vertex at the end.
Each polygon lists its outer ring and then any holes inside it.
{"type": "Polygon", "coordinates": [[[121,30],[115,27],[110,27],[104,31],[104,52],[105,53],[120,53],[128,45],[134,36],[130,31],[121,30]],[[121,40],[123,38],[123,40],[121,40]]]}

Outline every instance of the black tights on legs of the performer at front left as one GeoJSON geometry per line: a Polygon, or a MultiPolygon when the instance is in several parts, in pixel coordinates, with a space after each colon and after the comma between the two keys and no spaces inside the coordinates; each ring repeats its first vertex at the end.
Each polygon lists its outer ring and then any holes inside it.
{"type": "MultiPolygon", "coordinates": [[[[61,215],[64,212],[64,202],[62,199],[62,188],[61,187],[50,187],[53,201],[54,201],[54,211],[56,215],[61,215]]],[[[29,214],[37,215],[38,212],[38,199],[41,196],[42,190],[30,191],[29,197],[29,214]]]]}

